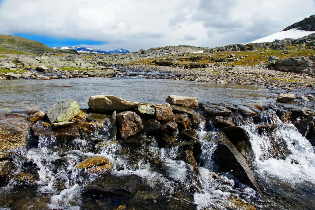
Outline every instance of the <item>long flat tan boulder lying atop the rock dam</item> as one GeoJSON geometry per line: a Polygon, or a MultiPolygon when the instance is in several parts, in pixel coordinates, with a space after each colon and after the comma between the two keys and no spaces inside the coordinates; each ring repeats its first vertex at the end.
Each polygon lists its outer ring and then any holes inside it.
{"type": "Polygon", "coordinates": [[[142,103],[126,101],[113,95],[94,95],[88,100],[88,106],[97,113],[126,110],[140,105],[142,103]]]}

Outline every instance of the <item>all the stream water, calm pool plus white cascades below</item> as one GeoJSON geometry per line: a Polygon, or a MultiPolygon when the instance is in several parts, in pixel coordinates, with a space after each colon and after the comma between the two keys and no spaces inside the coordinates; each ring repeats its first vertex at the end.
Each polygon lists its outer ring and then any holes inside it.
{"type": "MultiPolygon", "coordinates": [[[[87,108],[89,96],[102,94],[149,103],[164,103],[169,94],[195,96],[200,102],[236,104],[270,102],[276,96],[275,92],[256,86],[138,78],[1,81],[0,89],[0,111],[45,110],[62,98],[77,99],[81,107],[87,108]],[[62,87],[64,85],[70,87],[62,87]]],[[[274,115],[272,112],[267,114],[274,115]]],[[[290,151],[285,160],[268,157],[272,146],[270,136],[259,134],[257,124],[247,122],[242,125],[250,135],[255,173],[265,188],[264,196],[231,174],[213,173],[219,172],[211,158],[217,143],[204,136],[215,137],[215,129],[201,127],[199,131],[198,143],[202,152],[198,159],[199,173],[196,174],[190,165],[180,160],[180,146],[159,148],[156,139],[146,135],[143,136],[144,144],[126,145],[110,138],[111,124],[107,120],[91,139],[77,138],[66,145],[59,145],[54,136],[39,137],[38,140],[30,136],[32,148],[16,151],[14,159],[19,167],[14,171],[14,178],[0,188],[0,209],[93,209],[83,192],[99,175],[76,167],[92,156],[108,158],[114,164],[111,173],[114,177],[141,177],[148,187],[161,191],[167,198],[168,208],[175,208],[174,205],[180,203],[179,206],[186,209],[253,209],[252,206],[259,209],[314,209],[314,148],[292,124],[282,123],[276,116],[273,123],[278,123],[275,137],[282,139],[290,151]],[[26,173],[34,176],[33,180],[20,178],[26,173]]],[[[154,197],[154,192],[146,196],[154,197]]],[[[116,197],[115,201],[97,205],[99,209],[124,209],[125,206],[120,205],[125,201],[123,199],[116,197]]],[[[140,204],[128,203],[126,209],[128,206],[152,208],[141,206],[141,199],[138,200],[140,204]]],[[[165,208],[163,203],[152,202],[155,208],[165,208]]]]}

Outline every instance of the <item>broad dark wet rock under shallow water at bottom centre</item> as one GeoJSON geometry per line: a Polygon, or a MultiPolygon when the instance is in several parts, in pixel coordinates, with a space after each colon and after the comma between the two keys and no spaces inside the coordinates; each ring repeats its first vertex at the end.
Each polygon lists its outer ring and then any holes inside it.
{"type": "Polygon", "coordinates": [[[169,193],[162,184],[152,188],[147,182],[133,174],[103,175],[84,188],[83,208],[91,205],[93,208],[110,209],[121,206],[131,209],[195,209],[192,195],[181,187],[169,193]]]}

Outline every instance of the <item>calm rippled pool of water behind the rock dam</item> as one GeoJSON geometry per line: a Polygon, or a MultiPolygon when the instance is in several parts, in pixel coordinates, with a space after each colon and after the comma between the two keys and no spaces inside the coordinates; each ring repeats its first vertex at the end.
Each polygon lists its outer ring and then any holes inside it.
{"type": "Polygon", "coordinates": [[[130,101],[165,103],[170,94],[197,97],[199,102],[237,104],[271,101],[276,97],[274,92],[253,85],[163,79],[2,80],[0,111],[46,110],[62,98],[75,99],[81,108],[87,108],[91,95],[115,95],[130,101]]]}

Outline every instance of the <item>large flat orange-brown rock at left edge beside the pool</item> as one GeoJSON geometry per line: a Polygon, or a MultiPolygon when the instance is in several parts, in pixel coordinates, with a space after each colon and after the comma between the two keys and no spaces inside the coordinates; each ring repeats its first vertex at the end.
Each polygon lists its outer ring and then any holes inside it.
{"type": "Polygon", "coordinates": [[[0,159],[12,150],[27,147],[30,122],[21,114],[0,113],[0,159]]]}

